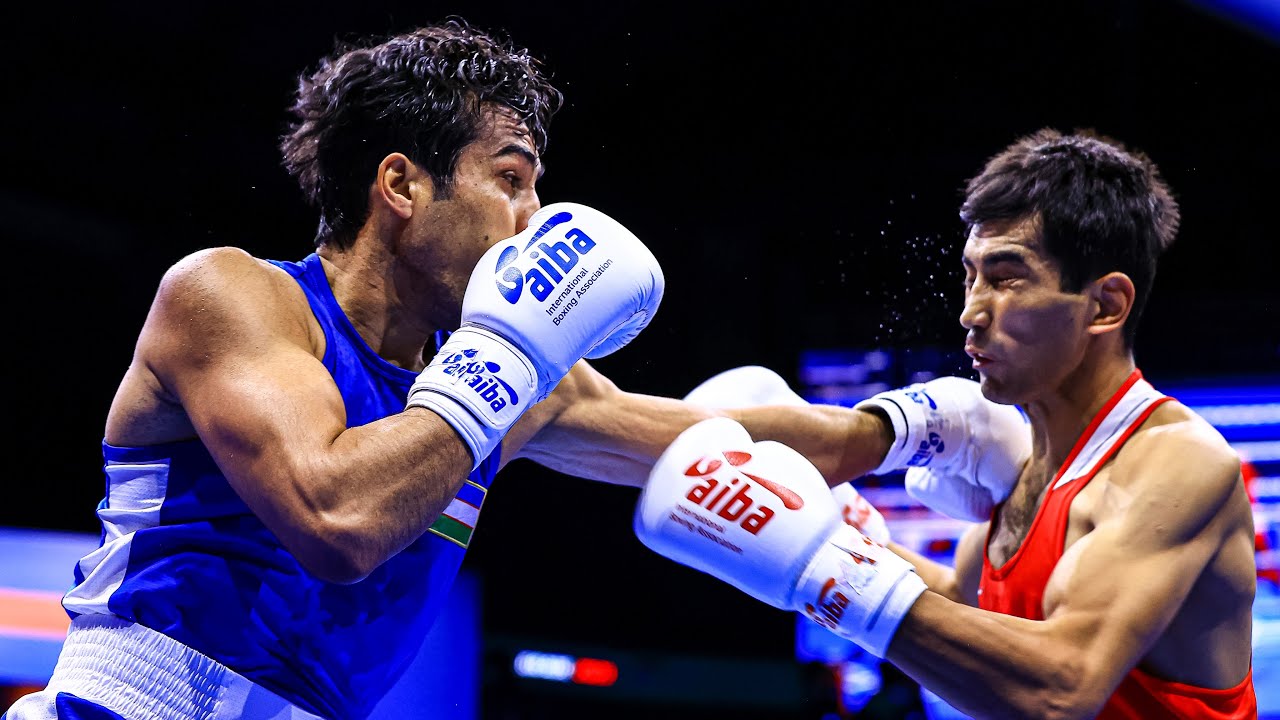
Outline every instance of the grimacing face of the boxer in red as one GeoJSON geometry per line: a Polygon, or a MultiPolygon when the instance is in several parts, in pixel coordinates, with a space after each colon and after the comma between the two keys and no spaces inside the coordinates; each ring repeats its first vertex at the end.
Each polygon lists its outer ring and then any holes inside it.
{"type": "Polygon", "coordinates": [[[1088,297],[1061,290],[1034,220],[975,225],[964,246],[965,352],[988,400],[1025,404],[1057,388],[1087,347],[1088,297]]]}

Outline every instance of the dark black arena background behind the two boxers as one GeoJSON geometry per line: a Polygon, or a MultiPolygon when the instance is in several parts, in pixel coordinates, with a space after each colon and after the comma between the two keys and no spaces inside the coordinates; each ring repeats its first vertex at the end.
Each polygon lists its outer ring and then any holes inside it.
{"type": "MultiPolygon", "coordinates": [[[[1280,33],[1197,3],[132,3],[28,5],[8,51],[0,524],[97,532],[102,423],[163,272],[202,247],[311,249],[279,164],[297,76],[335,38],[460,14],[564,91],[544,202],[631,227],[667,293],[596,366],[682,395],[804,348],[957,347],[959,191],[1041,127],[1144,150],[1180,199],[1138,363],[1280,366],[1280,33]]],[[[963,368],[954,368],[963,372],[963,368]]],[[[786,656],[792,620],[646,551],[635,491],[517,462],[467,566],[495,634],[786,656]]]]}

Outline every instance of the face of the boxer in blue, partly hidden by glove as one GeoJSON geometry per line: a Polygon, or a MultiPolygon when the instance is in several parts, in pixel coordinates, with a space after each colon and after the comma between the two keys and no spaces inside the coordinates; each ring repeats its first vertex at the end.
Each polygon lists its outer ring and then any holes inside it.
{"type": "Polygon", "coordinates": [[[445,199],[417,196],[411,242],[419,269],[438,286],[434,310],[442,327],[457,324],[480,256],[524,231],[541,206],[535,190],[541,173],[529,128],[511,110],[494,106],[480,137],[458,158],[453,192],[445,199]]]}

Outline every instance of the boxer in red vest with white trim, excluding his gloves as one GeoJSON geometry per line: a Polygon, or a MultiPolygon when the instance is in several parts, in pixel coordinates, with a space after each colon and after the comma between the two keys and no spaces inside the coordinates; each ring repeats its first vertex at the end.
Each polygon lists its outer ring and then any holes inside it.
{"type": "Polygon", "coordinates": [[[961,215],[966,351],[983,395],[1027,411],[1032,456],[954,570],[909,557],[934,593],[888,659],[980,715],[1256,717],[1240,460],[1134,364],[1167,188],[1119,143],[1042,131],[961,215]]]}

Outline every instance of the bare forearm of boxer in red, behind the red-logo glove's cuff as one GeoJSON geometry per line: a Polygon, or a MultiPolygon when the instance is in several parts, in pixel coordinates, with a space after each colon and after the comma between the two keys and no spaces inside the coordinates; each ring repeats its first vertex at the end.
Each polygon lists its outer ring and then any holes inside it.
{"type": "Polygon", "coordinates": [[[1087,717],[1083,652],[1046,621],[927,592],[899,625],[887,660],[956,708],[982,717],[1087,717]]]}

